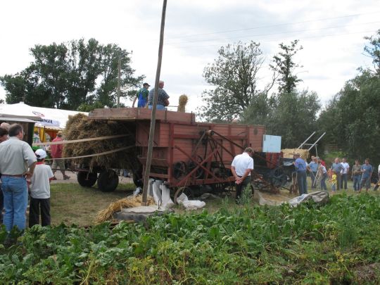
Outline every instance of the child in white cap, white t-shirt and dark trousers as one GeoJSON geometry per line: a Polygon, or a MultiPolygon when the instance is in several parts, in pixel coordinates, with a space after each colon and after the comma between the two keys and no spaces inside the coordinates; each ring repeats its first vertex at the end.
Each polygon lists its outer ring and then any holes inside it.
{"type": "Polygon", "coordinates": [[[35,152],[37,165],[30,179],[29,227],[39,224],[41,210],[42,227],[50,225],[50,182],[54,175],[49,165],[45,164],[46,151],[42,148],[35,152]]]}

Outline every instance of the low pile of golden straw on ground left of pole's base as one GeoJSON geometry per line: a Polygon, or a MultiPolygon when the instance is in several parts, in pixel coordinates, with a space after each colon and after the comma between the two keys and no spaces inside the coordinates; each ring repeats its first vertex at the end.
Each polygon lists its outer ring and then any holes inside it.
{"type": "MultiPolygon", "coordinates": [[[[142,196],[136,196],[131,198],[123,198],[116,202],[110,203],[108,208],[101,210],[95,218],[95,222],[100,224],[101,222],[106,222],[107,220],[112,219],[113,214],[116,212],[120,212],[122,208],[134,208],[141,206],[142,196]]],[[[147,205],[154,205],[153,197],[148,196],[146,199],[147,205]]]]}

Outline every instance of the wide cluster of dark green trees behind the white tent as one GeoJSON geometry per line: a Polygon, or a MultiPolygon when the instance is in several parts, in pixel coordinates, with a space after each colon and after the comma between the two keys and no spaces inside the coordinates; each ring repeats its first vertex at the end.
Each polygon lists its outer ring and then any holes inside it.
{"type": "Polygon", "coordinates": [[[16,75],[0,77],[6,89],[6,102],[24,101],[32,106],[76,110],[81,105],[99,102],[113,107],[118,85],[118,60],[121,60],[120,96],[129,96],[144,76],[135,76],[130,53],[116,44],[99,44],[96,39],[30,49],[34,61],[16,75]]]}

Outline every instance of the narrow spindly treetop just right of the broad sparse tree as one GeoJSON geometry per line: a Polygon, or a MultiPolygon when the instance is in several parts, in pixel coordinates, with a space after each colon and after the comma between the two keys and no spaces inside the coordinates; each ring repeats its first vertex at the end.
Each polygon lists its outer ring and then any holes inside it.
{"type": "Polygon", "coordinates": [[[273,64],[270,67],[279,75],[277,78],[279,92],[291,93],[296,89],[297,83],[302,81],[294,73],[296,68],[302,67],[294,62],[294,56],[303,47],[298,46],[298,39],[291,42],[290,45],[281,43],[279,47],[281,51],[273,56],[273,64]]]}

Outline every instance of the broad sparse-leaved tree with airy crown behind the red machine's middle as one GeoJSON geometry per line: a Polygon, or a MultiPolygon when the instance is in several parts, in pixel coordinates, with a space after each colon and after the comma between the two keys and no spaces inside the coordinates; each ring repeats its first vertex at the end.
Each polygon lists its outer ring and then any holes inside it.
{"type": "Polygon", "coordinates": [[[263,90],[258,88],[258,73],[264,61],[260,44],[228,44],[218,54],[203,71],[205,81],[214,89],[203,91],[205,106],[200,110],[206,120],[230,122],[255,103],[258,94],[266,96],[274,82],[263,90]]]}

